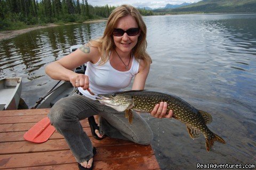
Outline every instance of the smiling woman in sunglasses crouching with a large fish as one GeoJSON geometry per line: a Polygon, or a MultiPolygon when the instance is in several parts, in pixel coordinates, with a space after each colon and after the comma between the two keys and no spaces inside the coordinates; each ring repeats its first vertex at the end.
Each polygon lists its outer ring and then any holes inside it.
{"type": "MultiPolygon", "coordinates": [[[[81,119],[101,117],[100,133],[95,131],[99,138],[107,135],[140,144],[153,140],[150,127],[140,115],[133,114],[130,125],[123,112],[103,106],[92,95],[121,91],[133,77],[132,90],[143,90],[151,62],[146,52],[146,31],[138,10],[130,5],[119,6],[111,12],[101,38],[46,66],[47,75],[70,81],[83,94],[58,101],[49,114],[53,126],[65,137],[79,169],[92,169],[92,157],[96,153],[79,123],[81,119]],[[85,75],[71,71],[86,62],[85,75]]],[[[167,103],[161,102],[150,114],[170,118],[172,111],[166,115],[166,109],[167,103]]]]}

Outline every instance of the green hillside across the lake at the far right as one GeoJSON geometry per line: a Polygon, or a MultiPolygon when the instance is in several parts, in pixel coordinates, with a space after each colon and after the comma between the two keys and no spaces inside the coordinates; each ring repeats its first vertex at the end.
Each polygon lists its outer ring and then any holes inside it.
{"type": "Polygon", "coordinates": [[[167,9],[166,13],[229,13],[256,12],[255,0],[203,0],[198,3],[167,9]]]}

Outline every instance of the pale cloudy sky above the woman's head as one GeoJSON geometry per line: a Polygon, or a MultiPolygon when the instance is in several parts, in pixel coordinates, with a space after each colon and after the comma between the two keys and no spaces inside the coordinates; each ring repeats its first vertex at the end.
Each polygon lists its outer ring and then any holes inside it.
{"type": "Polygon", "coordinates": [[[103,6],[103,5],[111,5],[111,6],[117,6],[117,5],[122,5],[124,4],[129,4],[129,5],[133,5],[135,7],[151,7],[152,9],[157,9],[159,7],[165,7],[166,4],[182,4],[184,2],[198,2],[198,1],[202,1],[202,0],[142,0],[142,1],[138,1],[138,0],[127,0],[127,1],[120,1],[120,0],[87,0],[87,2],[91,5],[99,5],[99,6],[103,6]]]}

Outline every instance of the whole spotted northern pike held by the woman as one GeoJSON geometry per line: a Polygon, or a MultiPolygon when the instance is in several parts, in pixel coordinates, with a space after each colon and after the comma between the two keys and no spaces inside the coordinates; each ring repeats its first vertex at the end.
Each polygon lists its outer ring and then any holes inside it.
{"type": "Polygon", "coordinates": [[[186,124],[188,133],[192,139],[197,139],[200,133],[203,133],[207,151],[210,151],[214,141],[223,144],[226,143],[220,136],[211,132],[206,126],[212,122],[212,116],[210,114],[197,110],[175,95],[139,90],[99,94],[96,99],[117,111],[125,111],[125,117],[129,118],[130,124],[132,123],[131,109],[139,112],[150,112],[156,104],[162,101],[167,102],[167,111],[172,110],[172,117],[186,124]]]}

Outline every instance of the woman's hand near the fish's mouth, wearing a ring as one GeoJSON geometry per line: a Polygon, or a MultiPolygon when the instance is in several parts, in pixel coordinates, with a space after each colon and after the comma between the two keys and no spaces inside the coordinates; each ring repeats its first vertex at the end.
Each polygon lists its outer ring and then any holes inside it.
{"type": "Polygon", "coordinates": [[[83,74],[75,74],[70,77],[70,83],[74,87],[82,87],[83,90],[87,90],[87,88],[89,88],[89,78],[83,74]]]}

